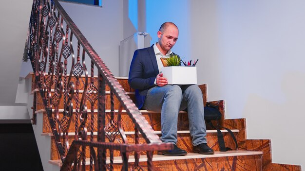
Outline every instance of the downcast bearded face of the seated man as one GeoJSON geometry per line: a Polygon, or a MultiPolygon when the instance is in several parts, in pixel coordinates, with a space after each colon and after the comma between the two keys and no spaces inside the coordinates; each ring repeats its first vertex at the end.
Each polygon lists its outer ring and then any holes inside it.
{"type": "Polygon", "coordinates": [[[179,31],[174,25],[169,25],[163,30],[163,32],[158,31],[158,44],[160,45],[161,52],[166,53],[175,45],[179,31]]]}

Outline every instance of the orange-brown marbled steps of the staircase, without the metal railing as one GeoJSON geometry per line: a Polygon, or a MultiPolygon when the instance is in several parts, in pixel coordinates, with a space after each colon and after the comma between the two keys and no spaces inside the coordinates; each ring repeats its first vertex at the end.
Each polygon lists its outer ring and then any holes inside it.
{"type": "MultiPolygon", "coordinates": [[[[28,83],[31,80],[34,80],[34,74],[29,74],[27,77],[28,83]]],[[[85,77],[82,77],[81,80],[84,80],[85,77]]],[[[95,78],[95,83],[97,78],[95,78]]],[[[134,100],[134,91],[131,89],[127,83],[127,78],[117,78],[118,82],[123,86],[126,93],[134,100]]],[[[34,83],[32,84],[34,85],[34,83]]],[[[30,87],[30,86],[29,86],[30,87]]],[[[199,85],[203,94],[204,94],[204,102],[207,101],[207,85],[199,85]]],[[[108,89],[108,87],[106,88],[108,89]]],[[[37,139],[44,139],[43,147],[41,146],[41,142],[38,143],[39,153],[47,154],[49,158],[47,162],[44,161],[46,168],[48,170],[58,171],[62,166],[62,161],[60,159],[60,155],[58,154],[56,142],[54,138],[52,138],[52,130],[50,130],[50,125],[48,122],[47,113],[44,109],[42,100],[40,95],[37,93],[38,89],[33,87],[30,90],[33,99],[36,99],[36,111],[34,112],[37,118],[37,124],[33,125],[33,129],[35,130],[35,136],[37,139]]],[[[54,90],[52,89],[52,93],[54,90]]],[[[80,91],[80,96],[82,96],[83,91],[80,91]]],[[[111,119],[111,110],[110,110],[110,92],[106,92],[106,123],[111,119]],[[107,107],[108,106],[108,107],[107,107]]],[[[188,171],[301,171],[300,166],[295,165],[284,165],[284,164],[274,164],[271,163],[271,142],[270,140],[249,140],[246,139],[246,120],[245,119],[225,119],[225,102],[224,101],[215,101],[211,102],[213,104],[217,104],[220,106],[220,111],[223,114],[223,118],[220,121],[220,124],[224,127],[228,127],[232,130],[234,135],[237,138],[238,150],[232,150],[228,152],[220,152],[217,140],[217,131],[212,130],[208,127],[207,131],[207,140],[209,146],[215,151],[214,155],[203,155],[203,154],[194,154],[192,153],[192,145],[191,145],[191,137],[189,135],[189,125],[188,125],[188,116],[185,111],[180,111],[179,120],[178,120],[178,147],[185,149],[188,151],[188,155],[186,156],[164,156],[157,155],[156,151],[153,152],[152,164],[153,170],[155,171],[167,171],[167,170],[188,170],[188,171]]],[[[97,103],[95,103],[95,108],[97,108],[97,103]]],[[[114,100],[114,106],[118,107],[117,100],[114,100]]],[[[61,106],[62,107],[62,106],[61,106]]],[[[115,111],[118,109],[116,108],[115,111]]],[[[89,111],[90,113],[92,111],[89,111]]],[[[140,110],[145,119],[152,126],[154,133],[157,135],[161,134],[161,124],[160,124],[160,113],[155,113],[147,110],[140,110]]],[[[63,116],[63,109],[59,109],[60,119],[63,116]]],[[[94,138],[97,139],[97,110],[94,110],[94,138]]],[[[33,116],[31,116],[33,117],[33,116]]],[[[117,117],[117,116],[115,116],[117,117]]],[[[91,118],[89,116],[88,118],[91,118]]],[[[69,137],[73,139],[75,136],[74,133],[74,123],[71,123],[72,126],[69,130],[69,137]]],[[[133,121],[128,117],[126,111],[122,111],[121,114],[121,124],[122,129],[128,139],[129,143],[134,143],[135,131],[133,127],[133,121]]],[[[88,131],[89,132],[89,131],[88,131]]],[[[224,138],[226,145],[232,149],[234,149],[234,141],[230,138],[229,133],[226,130],[222,130],[224,133],[224,138]]],[[[106,134],[111,134],[108,132],[106,134]]],[[[91,133],[88,133],[88,136],[91,133]]],[[[143,143],[145,140],[139,134],[140,138],[139,143],[143,143]]],[[[88,139],[90,140],[90,139],[88,139]]],[[[39,140],[38,140],[39,141],[39,140]]],[[[71,140],[72,142],[72,140],[71,140]]],[[[70,142],[70,143],[71,143],[70,142]]],[[[117,138],[115,140],[117,143],[121,143],[122,139],[117,138]]],[[[87,149],[89,151],[89,149],[87,149]]],[[[89,154],[89,153],[87,153],[89,154]]],[[[86,170],[90,169],[90,156],[86,158],[86,170]]],[[[47,157],[46,157],[47,158],[47,157]]],[[[134,154],[131,153],[129,156],[129,166],[132,167],[135,159],[134,154]]],[[[147,167],[147,155],[145,153],[140,153],[139,156],[139,165],[143,168],[147,167]]],[[[106,163],[110,163],[110,158],[107,157],[106,163]]],[[[119,152],[114,152],[114,170],[121,170],[123,160],[120,156],[119,152]]],[[[45,166],[44,166],[45,167],[45,166]]]]}

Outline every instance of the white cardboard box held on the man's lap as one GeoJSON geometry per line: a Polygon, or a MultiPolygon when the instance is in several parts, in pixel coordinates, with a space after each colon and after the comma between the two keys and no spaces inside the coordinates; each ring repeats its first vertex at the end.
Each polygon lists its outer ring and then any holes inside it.
{"type": "Polygon", "coordinates": [[[161,71],[167,78],[169,85],[195,85],[197,84],[196,67],[164,67],[161,71]]]}

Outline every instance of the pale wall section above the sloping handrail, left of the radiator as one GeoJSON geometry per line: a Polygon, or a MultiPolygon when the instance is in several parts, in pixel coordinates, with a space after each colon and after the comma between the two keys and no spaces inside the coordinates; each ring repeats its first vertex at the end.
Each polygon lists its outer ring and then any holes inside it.
{"type": "MultiPolygon", "coordinates": [[[[60,4],[114,76],[119,76],[119,45],[123,40],[123,1],[103,0],[103,7],[68,2],[60,4]]],[[[74,47],[75,52],[76,48],[77,45],[74,47]]],[[[90,63],[86,61],[86,64],[90,70],[90,63]]]]}

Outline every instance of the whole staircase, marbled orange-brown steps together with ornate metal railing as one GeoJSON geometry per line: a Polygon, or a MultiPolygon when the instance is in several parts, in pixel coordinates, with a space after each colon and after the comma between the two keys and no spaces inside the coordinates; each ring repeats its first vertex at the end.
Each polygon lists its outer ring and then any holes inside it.
{"type": "MultiPolygon", "coordinates": [[[[34,71],[26,77],[33,102],[28,110],[45,171],[301,171],[272,163],[270,140],[246,139],[246,120],[225,119],[224,101],[210,103],[220,107],[220,125],[234,132],[237,150],[219,152],[217,132],[208,127],[215,154],[192,153],[187,113],[181,111],[177,145],[188,155],[157,155],[172,148],[158,137],[160,113],[135,107],[127,78],[114,78],[57,0],[33,1],[24,61],[28,57],[34,71]]],[[[199,87],[208,102],[207,85],[199,87]]]]}

